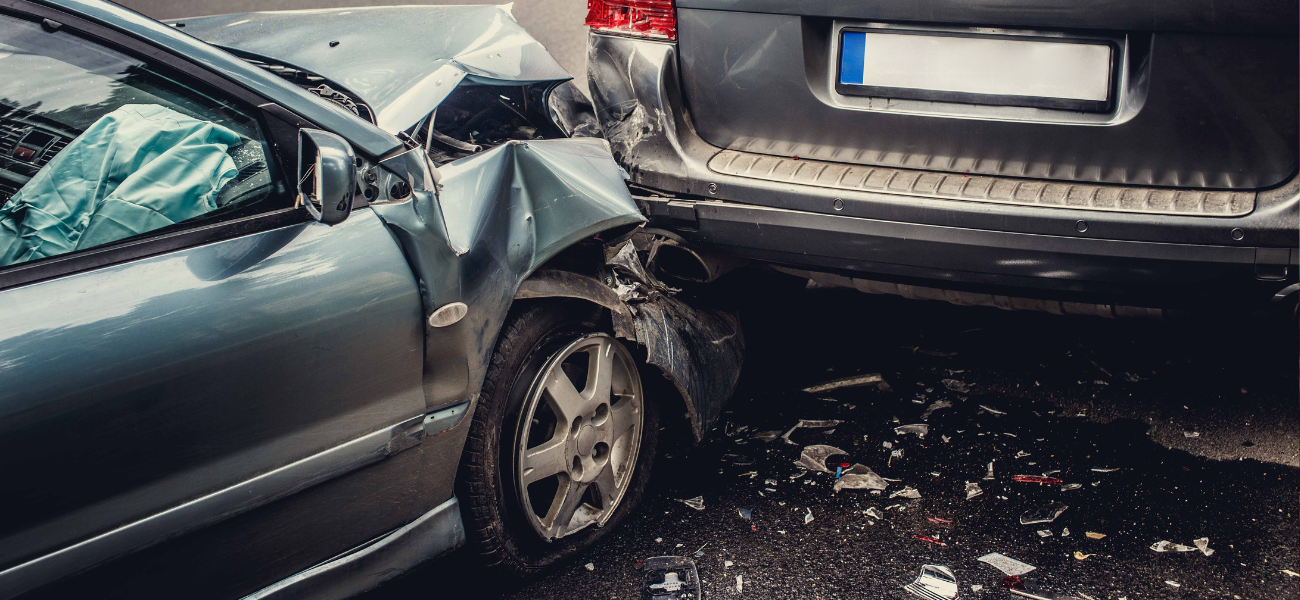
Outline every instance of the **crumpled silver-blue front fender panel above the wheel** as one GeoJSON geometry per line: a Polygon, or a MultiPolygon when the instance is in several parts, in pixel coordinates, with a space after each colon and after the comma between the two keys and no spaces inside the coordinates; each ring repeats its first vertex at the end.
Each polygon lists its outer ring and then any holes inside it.
{"type": "Polygon", "coordinates": [[[469,306],[452,326],[425,326],[430,408],[478,394],[529,274],[575,242],[645,222],[601,139],[498,145],[439,166],[437,195],[428,174],[407,170],[415,192],[370,208],[402,245],[425,317],[448,303],[469,306]]]}

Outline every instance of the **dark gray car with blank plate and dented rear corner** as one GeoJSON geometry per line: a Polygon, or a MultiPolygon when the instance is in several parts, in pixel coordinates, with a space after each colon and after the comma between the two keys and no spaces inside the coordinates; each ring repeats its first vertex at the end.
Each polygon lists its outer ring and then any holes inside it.
{"type": "Polygon", "coordinates": [[[1295,306],[1295,3],[592,4],[615,157],[699,251],[1001,308],[1295,306]]]}

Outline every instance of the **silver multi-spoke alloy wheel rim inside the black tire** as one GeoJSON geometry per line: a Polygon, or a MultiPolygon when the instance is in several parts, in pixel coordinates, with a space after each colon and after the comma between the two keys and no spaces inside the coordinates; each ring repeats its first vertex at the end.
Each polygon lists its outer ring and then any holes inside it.
{"type": "Polygon", "coordinates": [[[641,377],[620,342],[588,335],[546,361],[515,443],[520,501],[542,539],[610,519],[632,481],[644,421],[641,377]]]}

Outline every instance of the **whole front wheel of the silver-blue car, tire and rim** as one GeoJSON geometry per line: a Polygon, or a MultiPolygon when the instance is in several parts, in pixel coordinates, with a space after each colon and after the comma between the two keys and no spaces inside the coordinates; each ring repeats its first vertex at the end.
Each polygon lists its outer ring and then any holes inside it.
{"type": "Polygon", "coordinates": [[[458,479],[469,542],[528,577],[595,543],[640,501],[658,440],[641,361],[585,303],[502,329],[458,479]]]}

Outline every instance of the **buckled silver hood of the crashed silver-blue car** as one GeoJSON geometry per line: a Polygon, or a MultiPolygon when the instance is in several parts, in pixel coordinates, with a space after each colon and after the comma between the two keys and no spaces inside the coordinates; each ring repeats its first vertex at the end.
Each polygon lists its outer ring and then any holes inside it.
{"type": "Polygon", "coordinates": [[[356,95],[380,129],[410,129],[465,78],[572,77],[500,6],[376,6],[222,14],[172,21],[237,53],[303,69],[356,95]]]}

